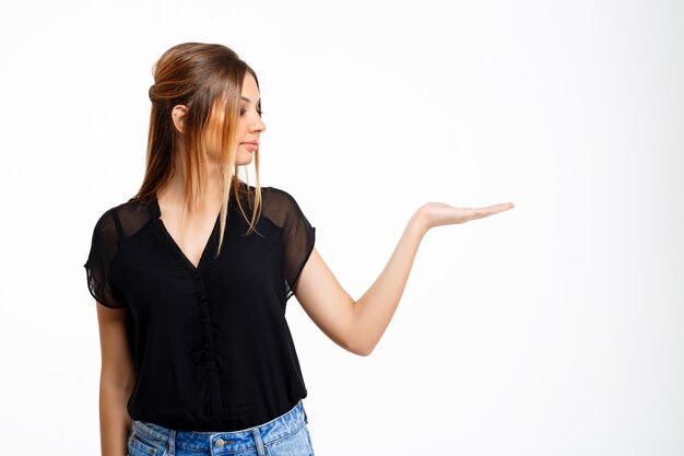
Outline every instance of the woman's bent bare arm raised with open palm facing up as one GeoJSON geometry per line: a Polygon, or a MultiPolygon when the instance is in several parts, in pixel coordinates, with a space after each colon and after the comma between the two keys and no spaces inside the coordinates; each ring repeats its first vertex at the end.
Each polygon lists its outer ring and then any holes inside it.
{"type": "Polygon", "coordinates": [[[366,356],[394,315],[425,233],[435,226],[482,219],[512,207],[507,202],[472,209],[428,202],[411,217],[385,269],[357,302],[338,282],[316,248],[293,292],[307,315],[331,340],[352,353],[366,356]]]}

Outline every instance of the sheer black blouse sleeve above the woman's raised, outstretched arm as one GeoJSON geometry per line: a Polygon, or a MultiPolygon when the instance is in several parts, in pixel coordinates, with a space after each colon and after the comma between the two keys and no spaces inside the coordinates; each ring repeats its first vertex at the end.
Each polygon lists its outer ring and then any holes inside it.
{"type": "Polygon", "coordinates": [[[283,255],[285,266],[285,300],[293,295],[293,287],[304,265],[314,250],[316,229],[302,212],[297,201],[286,191],[267,187],[264,214],[283,230],[283,255]]]}

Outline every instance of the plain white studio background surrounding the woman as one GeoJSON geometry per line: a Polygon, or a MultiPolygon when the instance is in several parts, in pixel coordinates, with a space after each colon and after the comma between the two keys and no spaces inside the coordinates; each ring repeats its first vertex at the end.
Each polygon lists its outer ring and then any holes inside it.
{"type": "Polygon", "coordinates": [[[424,202],[516,203],[427,233],[368,358],[290,301],[317,455],[684,454],[683,30],[677,1],[4,2],[0,453],[99,451],[82,265],[194,40],[257,71],[262,185],[352,296],[424,202]]]}

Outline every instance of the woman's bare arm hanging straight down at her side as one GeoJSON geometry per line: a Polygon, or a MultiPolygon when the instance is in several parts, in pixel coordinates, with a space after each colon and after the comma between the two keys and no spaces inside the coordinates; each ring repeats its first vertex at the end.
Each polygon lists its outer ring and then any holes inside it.
{"type": "Polygon", "coordinates": [[[126,405],[135,383],[135,369],[126,332],[127,309],[97,303],[102,370],[99,374],[99,439],[103,456],[126,456],[131,419],[126,405]]]}

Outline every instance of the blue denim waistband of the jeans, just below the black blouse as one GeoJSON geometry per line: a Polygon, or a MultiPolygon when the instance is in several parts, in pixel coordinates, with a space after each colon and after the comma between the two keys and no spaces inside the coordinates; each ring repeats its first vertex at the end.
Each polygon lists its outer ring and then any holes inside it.
{"type": "MultiPolygon", "coordinates": [[[[134,421],[133,434],[148,441],[155,441],[168,448],[174,455],[175,448],[207,452],[214,449],[220,453],[237,452],[260,447],[297,432],[308,422],[302,400],[288,412],[253,428],[231,432],[193,432],[175,431],[158,424],[134,421]]],[[[152,442],[151,442],[152,443],[152,442]]]]}

